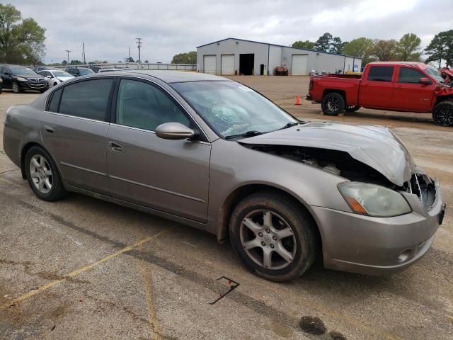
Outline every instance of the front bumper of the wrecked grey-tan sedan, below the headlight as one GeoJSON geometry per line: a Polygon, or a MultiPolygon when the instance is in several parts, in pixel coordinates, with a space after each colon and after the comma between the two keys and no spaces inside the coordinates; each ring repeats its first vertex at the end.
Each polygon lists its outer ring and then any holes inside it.
{"type": "Polygon", "coordinates": [[[438,181],[435,201],[425,210],[408,194],[413,212],[395,217],[370,217],[314,207],[321,227],[324,266],[369,275],[398,273],[420,260],[430,249],[445,212],[438,181]]]}

